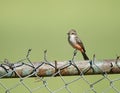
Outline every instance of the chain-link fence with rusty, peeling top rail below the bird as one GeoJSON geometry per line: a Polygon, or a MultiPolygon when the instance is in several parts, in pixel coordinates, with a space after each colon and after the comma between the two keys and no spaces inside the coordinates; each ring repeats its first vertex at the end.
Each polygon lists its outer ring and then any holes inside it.
{"type": "Polygon", "coordinates": [[[0,64],[0,93],[120,93],[120,60],[32,62],[26,57],[0,64]],[[89,76],[90,75],[90,76],[89,76]],[[92,76],[91,76],[92,75],[92,76]],[[30,78],[32,77],[32,78],[30,78]]]}

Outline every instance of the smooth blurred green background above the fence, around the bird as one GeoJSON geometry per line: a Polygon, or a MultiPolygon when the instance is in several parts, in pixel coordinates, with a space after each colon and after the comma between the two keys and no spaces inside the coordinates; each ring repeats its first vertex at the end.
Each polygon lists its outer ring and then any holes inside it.
{"type": "MultiPolygon", "coordinates": [[[[77,30],[90,59],[93,54],[100,60],[116,58],[120,0],[0,0],[0,60],[16,62],[29,48],[31,61],[42,61],[45,49],[49,61],[69,60],[70,29],[77,30]]],[[[80,53],[76,60],[83,60],[80,53]]]]}

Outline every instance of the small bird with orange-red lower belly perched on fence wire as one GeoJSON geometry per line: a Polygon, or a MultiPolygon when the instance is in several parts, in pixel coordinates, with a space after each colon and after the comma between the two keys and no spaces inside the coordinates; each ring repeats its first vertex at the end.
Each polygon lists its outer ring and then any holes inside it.
{"type": "Polygon", "coordinates": [[[82,53],[84,60],[89,60],[88,56],[85,53],[86,52],[85,47],[82,41],[80,40],[80,38],[77,36],[76,30],[71,29],[67,34],[68,34],[68,42],[70,43],[70,45],[74,49],[77,49],[82,53]]]}

